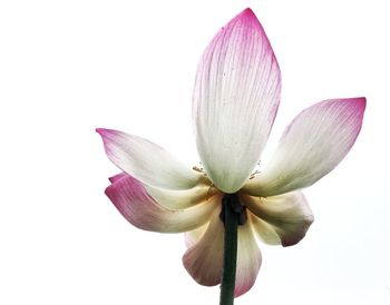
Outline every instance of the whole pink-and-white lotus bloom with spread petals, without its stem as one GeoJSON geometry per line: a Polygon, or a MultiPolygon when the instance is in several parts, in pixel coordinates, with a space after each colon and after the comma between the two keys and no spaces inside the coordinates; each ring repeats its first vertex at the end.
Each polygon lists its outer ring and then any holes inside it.
{"type": "Polygon", "coordinates": [[[267,141],[281,96],[281,73],[259,20],[246,9],[208,45],[196,76],[193,124],[204,170],[179,163],[136,136],[97,129],[108,158],[123,173],[106,194],[138,228],[186,232],[183,263],[202,285],[221,283],[224,194],[236,194],[247,220],[238,226],[235,296],[254,284],[261,253],[299,243],[313,222],[302,193],[348,154],[361,129],[364,98],[318,102],[284,130],[270,163],[253,173],[267,141]]]}

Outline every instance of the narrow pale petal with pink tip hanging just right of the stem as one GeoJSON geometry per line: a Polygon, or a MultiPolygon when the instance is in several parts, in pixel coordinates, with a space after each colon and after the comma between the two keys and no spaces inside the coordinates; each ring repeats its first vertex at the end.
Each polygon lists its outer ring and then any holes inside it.
{"type": "Polygon", "coordinates": [[[238,227],[238,250],[237,269],[235,279],[234,296],[241,296],[250,291],[256,281],[260,266],[262,264],[262,254],[259,249],[256,239],[253,236],[252,226],[246,223],[238,227]]]}

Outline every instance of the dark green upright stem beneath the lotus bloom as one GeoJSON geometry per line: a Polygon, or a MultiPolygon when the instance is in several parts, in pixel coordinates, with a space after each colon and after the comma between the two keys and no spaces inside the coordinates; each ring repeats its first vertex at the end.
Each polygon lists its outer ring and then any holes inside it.
{"type": "Polygon", "coordinates": [[[225,237],[220,305],[234,304],[240,209],[242,207],[235,194],[226,194],[223,197],[221,218],[225,225],[225,237]]]}

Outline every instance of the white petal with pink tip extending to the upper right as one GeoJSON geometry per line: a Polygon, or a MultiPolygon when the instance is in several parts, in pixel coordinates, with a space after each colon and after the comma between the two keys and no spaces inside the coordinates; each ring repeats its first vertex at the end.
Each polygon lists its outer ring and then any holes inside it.
{"type": "Polygon", "coordinates": [[[303,110],[285,129],[265,169],[245,186],[255,196],[308,187],[348,154],[362,126],[365,98],[324,100],[303,110]]]}

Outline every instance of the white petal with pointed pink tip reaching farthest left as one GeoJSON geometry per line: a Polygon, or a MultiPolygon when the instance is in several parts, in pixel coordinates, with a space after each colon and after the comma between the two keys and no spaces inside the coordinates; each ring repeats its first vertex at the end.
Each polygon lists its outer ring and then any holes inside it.
{"type": "Polygon", "coordinates": [[[202,174],[187,168],[162,147],[136,136],[110,129],[96,130],[108,158],[143,184],[167,189],[194,187],[202,174]]]}

